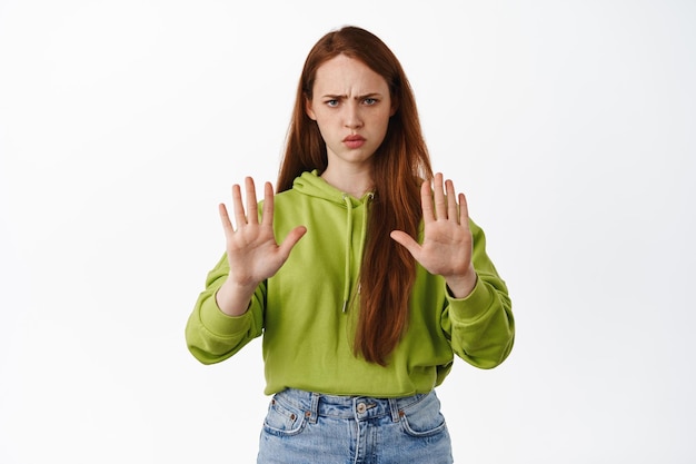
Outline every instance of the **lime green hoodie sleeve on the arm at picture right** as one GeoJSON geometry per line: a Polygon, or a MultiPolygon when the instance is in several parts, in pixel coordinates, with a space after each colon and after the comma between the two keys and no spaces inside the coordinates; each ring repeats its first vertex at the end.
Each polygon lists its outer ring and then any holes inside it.
{"type": "Polygon", "coordinates": [[[493,368],[513,349],[515,319],[507,286],[486,254],[484,230],[473,221],[470,228],[478,280],[466,298],[455,298],[447,290],[441,325],[457,356],[476,367],[493,368]]]}

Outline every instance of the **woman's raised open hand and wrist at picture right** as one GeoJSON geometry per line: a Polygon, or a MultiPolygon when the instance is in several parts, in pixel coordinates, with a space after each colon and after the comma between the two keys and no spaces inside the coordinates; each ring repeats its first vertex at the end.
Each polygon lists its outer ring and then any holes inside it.
{"type": "Polygon", "coordinates": [[[443,182],[441,172],[435,175],[434,187],[435,194],[430,182],[422,182],[420,188],[425,224],[422,244],[402,230],[391,231],[391,238],[406,247],[430,274],[445,277],[455,297],[464,298],[471,293],[477,278],[471,264],[474,240],[466,197],[455,195],[453,181],[443,182]]]}

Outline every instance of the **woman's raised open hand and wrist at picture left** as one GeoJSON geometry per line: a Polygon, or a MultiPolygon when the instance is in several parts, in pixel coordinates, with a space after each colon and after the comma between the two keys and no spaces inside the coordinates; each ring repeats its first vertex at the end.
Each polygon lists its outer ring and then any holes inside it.
{"type": "Polygon", "coordinates": [[[280,245],[274,235],[274,187],[264,186],[264,209],[258,218],[258,203],[253,179],[245,179],[247,208],[245,211],[241,188],[232,186],[232,208],[237,229],[232,227],[227,207],[220,204],[220,219],[225,230],[229,275],[216,298],[220,309],[230,316],[246,313],[256,287],[274,276],[290,256],[290,250],[307,231],[299,226],[290,230],[280,245]]]}

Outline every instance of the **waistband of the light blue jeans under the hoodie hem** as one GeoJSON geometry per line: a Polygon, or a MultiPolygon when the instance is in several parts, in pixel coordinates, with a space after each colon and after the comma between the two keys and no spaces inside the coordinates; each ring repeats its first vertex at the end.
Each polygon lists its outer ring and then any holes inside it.
{"type": "Polygon", "coordinates": [[[404,415],[404,409],[418,404],[429,395],[435,395],[435,391],[397,398],[374,398],[370,396],[324,395],[287,388],[277,393],[274,401],[301,409],[307,419],[312,423],[317,421],[318,416],[364,421],[385,415],[389,415],[394,422],[398,422],[404,415]]]}

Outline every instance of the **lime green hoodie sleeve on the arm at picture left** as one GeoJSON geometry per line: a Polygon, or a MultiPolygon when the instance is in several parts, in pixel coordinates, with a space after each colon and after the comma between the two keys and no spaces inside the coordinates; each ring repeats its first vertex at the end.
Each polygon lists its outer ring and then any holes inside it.
{"type": "Polygon", "coordinates": [[[266,284],[256,289],[243,315],[231,317],[220,310],[215,297],[228,274],[229,265],[223,255],[208,273],[206,289],[198,296],[186,325],[188,348],[203,364],[227,359],[262,333],[266,284]]]}

